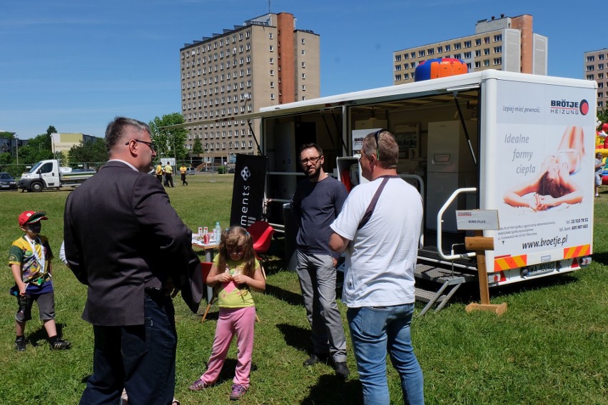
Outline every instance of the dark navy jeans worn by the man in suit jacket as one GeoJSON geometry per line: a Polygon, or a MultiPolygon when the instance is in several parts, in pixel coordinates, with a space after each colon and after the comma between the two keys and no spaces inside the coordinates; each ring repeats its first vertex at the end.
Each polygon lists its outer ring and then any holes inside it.
{"type": "MultiPolygon", "coordinates": [[[[175,390],[177,333],[171,297],[144,295],[143,325],[93,325],[93,375],[81,405],[171,404],[175,390]]],[[[125,309],[127,310],[127,309],[125,309]]]]}

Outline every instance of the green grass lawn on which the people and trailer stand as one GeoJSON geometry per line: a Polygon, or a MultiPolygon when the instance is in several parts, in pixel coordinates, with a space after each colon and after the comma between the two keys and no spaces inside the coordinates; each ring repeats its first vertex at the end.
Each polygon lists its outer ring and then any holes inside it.
{"type": "MultiPolygon", "coordinates": [[[[233,175],[191,175],[190,185],[168,190],[171,203],[188,226],[228,224],[233,175]],[[213,182],[211,181],[213,180],[213,182]]],[[[59,252],[68,190],[0,193],[0,255],[21,235],[16,218],[23,210],[46,210],[43,234],[59,252]]],[[[441,312],[415,318],[412,339],[425,374],[427,404],[608,404],[608,192],[596,199],[594,262],[569,275],[491,289],[493,303],[507,302],[501,317],[465,312],[478,292],[468,289],[441,312]]],[[[280,256],[282,240],[272,252],[280,256]]],[[[81,320],[86,288],[54,260],[56,322],[74,347],[51,352],[34,309],[28,322],[26,352],[14,351],[13,284],[8,267],[0,273],[0,404],[76,404],[91,374],[93,335],[81,320]]],[[[298,279],[280,260],[268,268],[268,289],[255,294],[260,317],[255,325],[251,388],[243,404],[360,404],[360,384],[352,352],[350,379],[340,383],[330,366],[305,368],[309,327],[298,279]]],[[[201,305],[201,312],[205,303],[201,305]]],[[[420,310],[422,306],[418,307],[420,310]]],[[[340,309],[345,307],[340,303],[340,309]]],[[[186,404],[228,402],[235,348],[228,354],[221,382],[188,391],[211,352],[217,307],[208,322],[176,299],[178,357],[176,396],[186,404]]],[[[345,324],[345,330],[348,330],[345,324]]],[[[233,345],[234,346],[234,345],[233,345]]],[[[349,344],[350,346],[350,344],[349,344]]],[[[388,366],[392,403],[401,404],[398,376],[388,366]]]]}

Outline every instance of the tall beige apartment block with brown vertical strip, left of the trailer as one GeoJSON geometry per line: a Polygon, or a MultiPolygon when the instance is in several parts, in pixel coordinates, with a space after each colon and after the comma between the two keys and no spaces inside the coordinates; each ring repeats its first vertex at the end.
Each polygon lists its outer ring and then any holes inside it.
{"type": "Polygon", "coordinates": [[[249,125],[239,116],[319,97],[319,55],[318,34],[296,29],[289,13],[265,14],[186,43],[180,49],[181,109],[193,124],[186,148],[192,150],[198,138],[206,159],[257,153],[249,125]]]}

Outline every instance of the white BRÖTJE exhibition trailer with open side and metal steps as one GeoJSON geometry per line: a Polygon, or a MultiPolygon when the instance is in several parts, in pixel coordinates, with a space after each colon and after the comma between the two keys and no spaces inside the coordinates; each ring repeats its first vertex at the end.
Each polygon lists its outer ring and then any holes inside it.
{"type": "Polygon", "coordinates": [[[593,245],[596,95],[594,81],[490,70],[262,108],[268,220],[290,237],[300,145],[318,143],[352,188],[360,140],[387,128],[425,203],[417,277],[441,288],[421,299],[442,306],[477,277],[456,210],[497,211],[500,228],[483,231],[490,287],[578,270],[593,245]]]}

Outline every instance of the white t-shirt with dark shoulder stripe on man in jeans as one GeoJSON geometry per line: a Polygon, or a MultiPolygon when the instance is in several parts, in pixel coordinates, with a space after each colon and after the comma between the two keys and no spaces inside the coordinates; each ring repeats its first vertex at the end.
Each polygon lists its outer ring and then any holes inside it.
{"type": "Polygon", "coordinates": [[[390,178],[369,222],[357,230],[376,190],[378,178],[358,185],[330,225],[351,242],[346,250],[342,299],[350,308],[381,307],[414,302],[422,198],[400,178],[390,178]]]}

